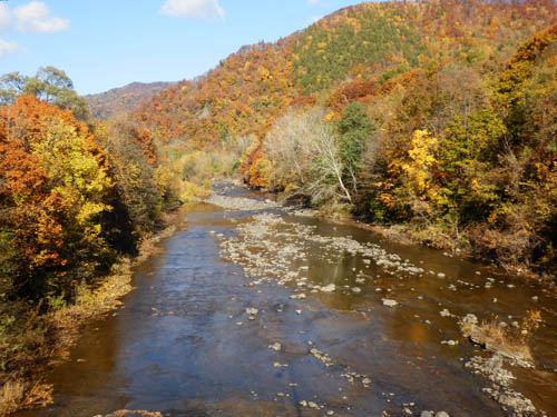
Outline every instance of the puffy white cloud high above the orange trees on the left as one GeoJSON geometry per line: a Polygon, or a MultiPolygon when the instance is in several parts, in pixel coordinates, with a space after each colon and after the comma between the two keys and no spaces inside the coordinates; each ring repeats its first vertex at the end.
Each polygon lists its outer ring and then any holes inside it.
{"type": "Polygon", "coordinates": [[[51,33],[69,28],[69,20],[51,17],[48,6],[42,1],[31,1],[13,10],[17,27],[23,32],[51,33]]]}

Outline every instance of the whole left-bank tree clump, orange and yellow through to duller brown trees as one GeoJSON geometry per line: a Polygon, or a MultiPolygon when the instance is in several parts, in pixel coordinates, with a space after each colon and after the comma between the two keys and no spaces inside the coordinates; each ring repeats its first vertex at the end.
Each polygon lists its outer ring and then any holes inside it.
{"type": "Polygon", "coordinates": [[[107,137],[95,137],[70,110],[31,96],[0,108],[4,297],[71,299],[76,284],[105,274],[118,252],[131,250],[130,240],[140,236],[136,228],[153,227],[170,197],[163,196],[167,190],[156,179],[152,135],[117,123],[111,136],[107,143],[107,137]],[[134,160],[143,187],[135,199],[125,193],[138,181],[134,160]],[[153,214],[148,218],[136,209],[141,201],[153,214]]]}

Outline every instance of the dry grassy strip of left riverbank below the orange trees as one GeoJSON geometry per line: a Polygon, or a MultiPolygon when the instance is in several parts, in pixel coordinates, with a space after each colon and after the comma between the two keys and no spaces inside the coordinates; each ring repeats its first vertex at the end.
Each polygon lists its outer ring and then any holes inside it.
{"type": "Polygon", "coordinates": [[[100,277],[94,287],[81,285],[74,304],[60,301],[53,311],[46,315],[31,312],[25,320],[14,324],[10,322],[14,320],[11,316],[1,315],[3,370],[0,371],[0,416],[43,407],[52,401],[52,386],[47,383],[48,371],[68,359],[86,324],[120,307],[120,298],[134,289],[134,268],[162,254],[158,244],[175,232],[174,224],[180,215],[182,210],[166,214],[163,218],[165,227],[143,239],[135,258],[121,257],[111,267],[110,274],[100,277]]]}

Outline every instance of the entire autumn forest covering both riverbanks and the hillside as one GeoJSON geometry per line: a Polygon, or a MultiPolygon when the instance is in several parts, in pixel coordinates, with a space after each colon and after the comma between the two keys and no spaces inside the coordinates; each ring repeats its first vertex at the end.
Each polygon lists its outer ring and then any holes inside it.
{"type": "Polygon", "coordinates": [[[89,108],[53,67],[0,79],[3,411],[48,397],[30,377],[53,354],[39,347],[60,337],[57,311],[218,177],[557,276],[551,0],[362,3],[152,87],[129,110],[143,91],[89,108]]]}

